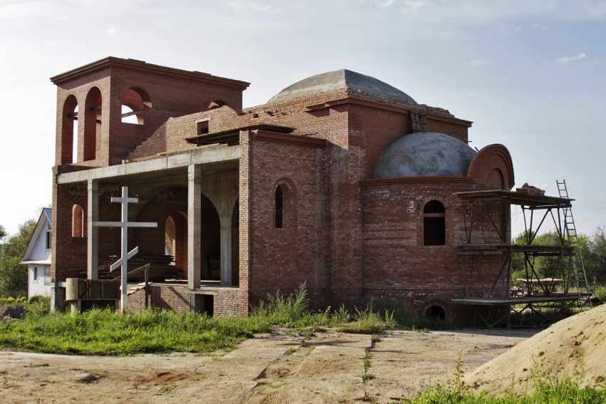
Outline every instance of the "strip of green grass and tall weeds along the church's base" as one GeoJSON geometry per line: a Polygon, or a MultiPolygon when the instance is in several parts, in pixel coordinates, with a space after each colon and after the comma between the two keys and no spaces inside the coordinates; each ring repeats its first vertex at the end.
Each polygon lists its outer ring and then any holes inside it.
{"type": "MultiPolygon", "coordinates": [[[[16,299],[6,299],[16,304],[16,299]]],[[[0,323],[0,348],[45,353],[91,355],[131,355],[134,353],[207,352],[230,349],[254,333],[271,326],[294,328],[309,340],[324,326],[339,331],[367,333],[377,341],[386,328],[396,328],[396,311],[366,309],[351,315],[344,306],[333,310],[309,311],[305,285],[293,294],[267,295],[252,308],[250,318],[208,317],[205,314],[178,314],[148,310],[140,314],[93,309],[83,314],[49,313],[49,299],[34,296],[19,299],[29,312],[23,321],[0,323]]]]}

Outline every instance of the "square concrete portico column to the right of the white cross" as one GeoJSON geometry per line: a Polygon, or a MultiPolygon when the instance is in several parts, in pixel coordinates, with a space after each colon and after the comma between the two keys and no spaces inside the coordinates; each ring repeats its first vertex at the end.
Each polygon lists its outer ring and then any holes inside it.
{"type": "Polygon", "coordinates": [[[200,214],[202,211],[202,166],[188,167],[188,287],[200,288],[200,214]]]}

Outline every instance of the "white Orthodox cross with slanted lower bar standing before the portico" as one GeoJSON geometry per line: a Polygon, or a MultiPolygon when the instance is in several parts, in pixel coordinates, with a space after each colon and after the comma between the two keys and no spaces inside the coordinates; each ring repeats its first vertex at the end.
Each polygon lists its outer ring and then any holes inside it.
{"type": "Polygon", "coordinates": [[[128,222],[128,203],[139,202],[139,198],[128,197],[128,187],[122,187],[122,197],[112,197],[111,202],[119,202],[122,204],[122,222],[93,222],[93,226],[98,227],[122,227],[122,248],[120,250],[120,259],[115,261],[110,266],[110,271],[122,266],[122,296],[120,298],[120,309],[123,311],[128,309],[127,299],[127,282],[126,276],[128,273],[128,259],[133,257],[139,251],[139,247],[135,247],[130,252],[128,251],[128,227],[158,227],[158,222],[128,222]]]}

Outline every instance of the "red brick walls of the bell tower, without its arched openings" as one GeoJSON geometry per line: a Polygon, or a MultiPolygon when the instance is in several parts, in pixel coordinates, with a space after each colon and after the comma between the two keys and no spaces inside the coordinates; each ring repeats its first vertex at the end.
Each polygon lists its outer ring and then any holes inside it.
{"type": "Polygon", "coordinates": [[[236,110],[242,108],[242,86],[222,83],[222,80],[217,81],[210,75],[207,81],[201,80],[200,77],[191,80],[188,79],[188,72],[185,72],[186,76],[166,74],[161,72],[162,68],[158,71],[136,61],[118,64],[129,63],[132,66],[117,66],[116,63],[110,62],[104,68],[76,75],[71,79],[56,81],[58,111],[56,165],[61,165],[61,162],[66,160],[61,155],[68,152],[63,144],[66,138],[62,136],[63,125],[66,122],[63,106],[70,95],[76,97],[78,109],[81,111],[78,116],[78,130],[81,133],[78,147],[81,148],[85,115],[83,111],[91,88],[100,90],[103,108],[97,111],[101,112],[101,124],[96,141],[96,158],[78,163],[86,166],[120,164],[135,150],[135,147],[150,138],[168,118],[207,110],[215,100],[221,100],[236,110]],[[122,122],[122,95],[129,88],[141,89],[149,97],[150,105],[144,108],[143,125],[122,122]]]}

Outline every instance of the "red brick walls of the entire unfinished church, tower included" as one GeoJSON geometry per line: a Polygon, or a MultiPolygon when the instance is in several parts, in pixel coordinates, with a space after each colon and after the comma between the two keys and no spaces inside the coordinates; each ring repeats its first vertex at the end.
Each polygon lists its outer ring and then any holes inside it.
{"type": "MultiPolygon", "coordinates": [[[[503,175],[501,182],[513,185],[513,167],[506,149],[493,147],[481,152],[480,158],[472,162],[470,177],[391,182],[370,179],[384,147],[411,133],[411,110],[427,115],[428,131],[446,133],[463,141],[467,140],[470,122],[441,108],[346,89],[240,111],[241,88],[189,83],[122,69],[98,71],[61,83],[58,111],[63,111],[70,95],[77,98],[78,105],[84,105],[92,86],[101,90],[103,98],[96,159],[78,165],[65,164],[57,170],[111,165],[123,158],[147,158],[196,147],[186,138],[197,135],[197,121],[206,119],[211,133],[268,123],[293,128],[292,135],[302,139],[296,141],[289,135],[263,131],[240,133],[240,287],[217,292],[213,298],[215,314],[245,316],[249,304],[265,298],[267,293],[279,289],[287,294],[306,282],[314,307],[361,305],[371,298],[396,299],[420,311],[428,305],[440,304],[453,316],[459,312],[465,315],[465,311],[448,304],[451,298],[465,293],[456,246],[465,242],[463,217],[470,214],[454,193],[494,187],[500,182],[495,169],[503,175]],[[151,108],[145,109],[144,125],[120,120],[120,97],[130,87],[143,88],[149,95],[151,108]],[[207,110],[216,99],[228,105],[207,110]],[[314,138],[326,142],[314,143],[314,138]],[[284,187],[287,202],[282,228],[274,224],[275,190],[279,185],[284,187]],[[422,212],[429,200],[440,200],[446,207],[445,246],[423,246],[422,212]]],[[[63,113],[59,113],[57,164],[65,160],[63,143],[68,141],[62,136],[63,118],[63,113]]],[[[163,184],[170,182],[163,181],[163,184]]],[[[184,181],[185,177],[175,177],[170,185],[183,186],[184,181]]],[[[102,193],[113,192],[111,196],[119,194],[117,185],[100,188],[102,193]]],[[[140,208],[138,221],[159,225],[158,229],[133,232],[133,240],[140,244],[142,252],[163,253],[166,217],[175,212],[173,202],[178,204],[177,210],[187,212],[186,195],[187,190],[182,188],[174,201],[150,197],[140,208]]],[[[100,197],[99,219],[118,219],[118,204],[111,204],[108,195],[105,197],[103,200],[100,197]]],[[[71,210],[68,216],[64,212],[71,209],[74,201],[86,208],[86,187],[84,193],[56,188],[53,201],[53,208],[57,209],[53,234],[60,234],[58,242],[53,243],[58,246],[57,252],[53,251],[53,257],[58,259],[53,269],[56,267],[58,273],[64,274],[78,262],[83,262],[86,268],[86,241],[84,255],[81,246],[71,247],[73,242],[66,237],[66,229],[71,230],[71,210]]],[[[488,206],[485,213],[493,209],[497,207],[488,206]]],[[[213,228],[218,226],[210,216],[202,222],[213,228]]],[[[481,242],[500,241],[486,219],[476,221],[474,231],[481,242]]],[[[114,229],[100,229],[99,240],[100,256],[117,252],[119,235],[114,229]]],[[[217,236],[213,235],[202,243],[202,257],[215,254],[216,242],[217,236]]],[[[183,251],[180,254],[186,255],[183,251]]],[[[468,293],[470,290],[472,294],[480,293],[486,286],[486,279],[498,267],[496,262],[488,264],[479,269],[481,276],[471,278],[477,280],[477,290],[468,288],[468,293]]],[[[185,310],[186,289],[186,286],[153,286],[156,305],[185,310]]],[[[133,306],[140,301],[135,295],[133,306]]]]}

